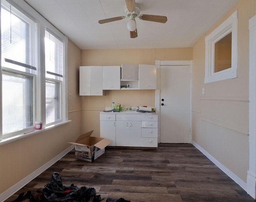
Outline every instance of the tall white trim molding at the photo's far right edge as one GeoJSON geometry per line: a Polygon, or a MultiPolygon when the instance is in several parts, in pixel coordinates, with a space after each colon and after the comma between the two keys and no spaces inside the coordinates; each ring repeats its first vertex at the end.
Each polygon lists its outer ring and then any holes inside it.
{"type": "Polygon", "coordinates": [[[249,171],[247,193],[256,198],[256,16],[249,20],[249,171]]]}

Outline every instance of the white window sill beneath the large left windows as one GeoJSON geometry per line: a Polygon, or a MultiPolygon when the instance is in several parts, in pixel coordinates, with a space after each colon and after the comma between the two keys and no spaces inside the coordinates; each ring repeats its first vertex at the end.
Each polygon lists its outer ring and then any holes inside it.
{"type": "Polygon", "coordinates": [[[0,141],[0,146],[1,145],[5,145],[5,144],[10,143],[10,142],[14,142],[14,141],[22,139],[24,137],[29,137],[29,136],[37,134],[37,133],[42,133],[44,131],[47,131],[47,130],[52,129],[54,127],[62,126],[62,125],[67,124],[69,122],[71,122],[71,120],[60,122],[58,124],[54,124],[54,125],[51,125],[51,126],[47,126],[46,128],[41,129],[41,130],[32,130],[32,131],[27,132],[26,134],[21,133],[19,135],[15,135],[13,137],[9,137],[9,138],[3,139],[3,140],[0,141]]]}

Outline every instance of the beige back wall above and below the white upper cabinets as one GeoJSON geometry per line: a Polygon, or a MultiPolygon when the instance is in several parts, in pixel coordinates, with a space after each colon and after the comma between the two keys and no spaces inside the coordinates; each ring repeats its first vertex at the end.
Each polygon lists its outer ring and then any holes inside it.
{"type": "MultiPolygon", "coordinates": [[[[192,60],[192,48],[84,50],[82,66],[146,64],[156,60],[192,60]]],[[[106,90],[105,96],[82,96],[82,132],[100,135],[100,112],[111,103],[122,106],[155,106],[155,90],[106,90]]]]}

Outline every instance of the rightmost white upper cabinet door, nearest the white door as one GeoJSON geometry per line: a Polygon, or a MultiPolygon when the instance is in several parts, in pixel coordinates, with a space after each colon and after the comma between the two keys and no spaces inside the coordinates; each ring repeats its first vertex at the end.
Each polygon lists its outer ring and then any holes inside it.
{"type": "Polygon", "coordinates": [[[156,89],[156,65],[139,65],[139,88],[156,89]]]}

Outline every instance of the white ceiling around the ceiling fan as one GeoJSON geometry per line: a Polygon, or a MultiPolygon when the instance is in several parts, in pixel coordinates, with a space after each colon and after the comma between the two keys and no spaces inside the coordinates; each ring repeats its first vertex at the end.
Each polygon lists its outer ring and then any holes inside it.
{"type": "Polygon", "coordinates": [[[131,39],[125,0],[25,0],[80,49],[193,47],[239,0],[136,0],[140,14],[167,16],[165,24],[136,18],[138,37],[131,39]]]}

